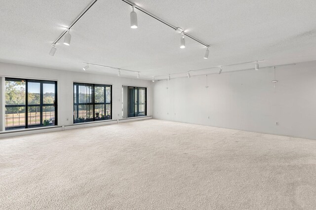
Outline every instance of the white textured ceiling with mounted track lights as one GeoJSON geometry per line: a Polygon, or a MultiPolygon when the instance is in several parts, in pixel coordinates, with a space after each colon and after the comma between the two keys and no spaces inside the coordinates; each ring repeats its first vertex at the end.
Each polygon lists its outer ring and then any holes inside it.
{"type": "MultiPolygon", "coordinates": [[[[196,41],[187,37],[186,48],[180,49],[179,34],[137,9],[138,29],[133,30],[131,6],[98,0],[72,28],[71,45],[58,42],[55,56],[49,56],[51,43],[90,2],[1,0],[0,62],[72,71],[82,71],[82,62],[87,62],[141,71],[141,78],[150,79],[255,60],[265,60],[261,66],[316,60],[315,0],[135,1],[210,44],[207,60],[205,47],[196,41]]],[[[117,74],[92,66],[87,71],[117,74]]]]}

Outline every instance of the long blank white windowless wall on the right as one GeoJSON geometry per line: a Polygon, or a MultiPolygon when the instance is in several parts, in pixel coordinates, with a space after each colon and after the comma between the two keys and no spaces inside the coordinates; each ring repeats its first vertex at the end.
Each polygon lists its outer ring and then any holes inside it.
{"type": "Polygon", "coordinates": [[[316,139],[316,62],[155,82],[154,118],[316,139]],[[208,118],[209,117],[209,118],[208,118]],[[279,125],[276,125],[278,122],[279,125]]]}

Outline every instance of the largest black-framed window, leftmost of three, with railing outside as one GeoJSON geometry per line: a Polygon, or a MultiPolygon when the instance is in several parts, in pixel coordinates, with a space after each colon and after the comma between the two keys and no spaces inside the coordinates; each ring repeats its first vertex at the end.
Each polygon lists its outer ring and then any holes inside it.
{"type": "Polygon", "coordinates": [[[5,130],[57,125],[57,82],[5,78],[5,130]]]}

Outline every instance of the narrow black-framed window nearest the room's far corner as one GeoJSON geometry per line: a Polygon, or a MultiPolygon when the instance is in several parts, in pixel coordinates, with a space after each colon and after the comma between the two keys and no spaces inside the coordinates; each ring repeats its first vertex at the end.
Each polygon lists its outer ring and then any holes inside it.
{"type": "Polygon", "coordinates": [[[146,116],[146,88],[128,87],[128,117],[146,116]]]}

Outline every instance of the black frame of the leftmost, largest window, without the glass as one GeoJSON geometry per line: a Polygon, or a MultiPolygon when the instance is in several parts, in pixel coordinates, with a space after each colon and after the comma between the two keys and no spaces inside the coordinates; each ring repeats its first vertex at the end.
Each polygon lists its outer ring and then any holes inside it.
{"type": "Polygon", "coordinates": [[[10,126],[10,127],[5,127],[6,131],[10,130],[16,130],[16,129],[28,129],[28,128],[39,128],[39,127],[44,127],[43,124],[43,116],[40,114],[40,124],[30,124],[29,125],[29,107],[36,106],[40,107],[40,113],[43,112],[43,106],[54,106],[55,107],[55,113],[54,113],[54,125],[58,125],[58,97],[57,97],[57,81],[54,80],[42,80],[42,79],[22,79],[22,78],[12,78],[12,77],[5,77],[5,81],[25,81],[25,105],[6,105],[6,107],[25,107],[25,126],[10,126]],[[29,105],[28,103],[28,83],[29,82],[36,82],[40,83],[40,104],[37,105],[29,105]],[[44,104],[43,103],[43,84],[54,84],[55,85],[55,100],[53,104],[44,104]]]}

